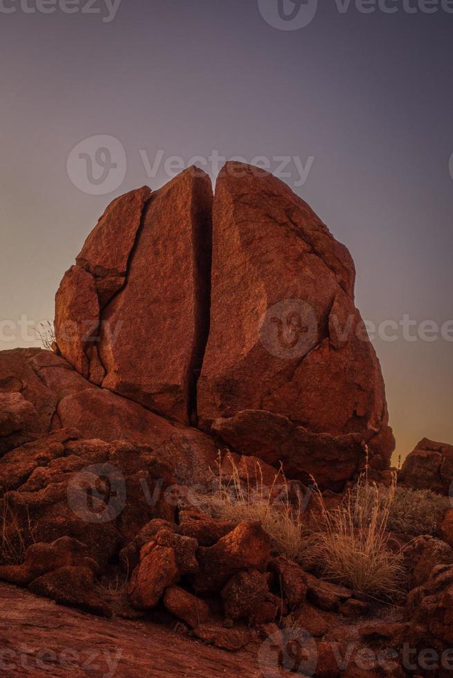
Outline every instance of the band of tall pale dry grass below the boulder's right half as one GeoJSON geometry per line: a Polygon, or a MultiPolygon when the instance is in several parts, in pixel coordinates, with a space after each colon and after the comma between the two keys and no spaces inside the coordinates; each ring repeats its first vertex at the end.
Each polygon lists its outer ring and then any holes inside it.
{"type": "Polygon", "coordinates": [[[388,534],[396,476],[383,492],[368,481],[365,473],[339,508],[326,506],[313,479],[314,506],[309,529],[306,506],[300,497],[296,506],[290,500],[283,470],[268,488],[259,462],[252,482],[248,476],[245,481],[241,479],[231,455],[228,461],[231,475],[224,475],[219,459],[213,491],[197,497],[205,513],[231,522],[260,522],[275,553],[283,553],[323,578],[374,598],[391,599],[404,587],[403,553],[389,547],[388,534]]]}

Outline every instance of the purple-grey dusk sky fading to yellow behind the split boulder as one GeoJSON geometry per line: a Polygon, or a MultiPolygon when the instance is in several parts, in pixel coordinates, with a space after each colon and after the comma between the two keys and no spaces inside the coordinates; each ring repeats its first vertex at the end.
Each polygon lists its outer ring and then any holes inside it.
{"type": "MultiPolygon", "coordinates": [[[[0,2],[16,9],[0,11],[0,321],[53,318],[60,279],[105,205],[168,181],[163,167],[147,176],[140,151],[151,164],[159,151],[186,163],[265,156],[273,170],[275,156],[312,156],[304,185],[294,165],[285,181],[350,248],[364,318],[453,319],[453,14],[388,6],[400,11],[341,13],[322,0],[308,26],[278,30],[258,0],[123,0],[109,22],[105,0],[100,15],[0,2]],[[120,140],[127,157],[105,195],[66,170],[95,135],[120,140]]],[[[30,345],[19,330],[4,335],[0,349],[30,345]]],[[[397,453],[422,437],[453,443],[453,342],[374,343],[397,453]]]]}

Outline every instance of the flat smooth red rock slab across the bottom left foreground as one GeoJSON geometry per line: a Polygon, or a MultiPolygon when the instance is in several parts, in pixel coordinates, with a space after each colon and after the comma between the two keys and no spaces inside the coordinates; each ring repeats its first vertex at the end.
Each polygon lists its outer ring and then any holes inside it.
{"type": "Polygon", "coordinates": [[[263,675],[251,654],[195,643],[152,621],[100,619],[5,584],[0,585],[0,607],[3,668],[12,678],[263,675]]]}

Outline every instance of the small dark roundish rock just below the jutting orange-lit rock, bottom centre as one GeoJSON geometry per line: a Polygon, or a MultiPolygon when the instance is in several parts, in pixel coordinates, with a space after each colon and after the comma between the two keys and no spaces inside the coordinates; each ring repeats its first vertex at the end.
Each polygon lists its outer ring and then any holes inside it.
{"type": "Polygon", "coordinates": [[[267,578],[262,572],[238,572],[222,589],[225,617],[250,619],[260,610],[269,594],[267,578]]]}

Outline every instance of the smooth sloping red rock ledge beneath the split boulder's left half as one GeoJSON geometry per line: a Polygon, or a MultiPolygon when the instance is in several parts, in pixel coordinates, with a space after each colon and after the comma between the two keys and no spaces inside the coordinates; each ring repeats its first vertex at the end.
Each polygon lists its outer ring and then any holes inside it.
{"type": "MultiPolygon", "coordinates": [[[[43,442],[40,439],[49,432],[58,436],[63,429],[72,434],[76,430],[75,437],[107,443],[126,438],[138,446],[151,446],[159,459],[168,461],[175,469],[175,478],[183,485],[205,482],[206,470],[215,466],[218,446],[211,437],[195,428],[173,425],[139,403],[96,387],[64,358],[50,351],[0,351],[2,394],[8,396],[5,403],[14,401],[20,405],[24,399],[30,416],[17,420],[17,432],[9,433],[8,428],[6,435],[0,434],[0,457],[8,450],[35,441],[35,447],[27,446],[8,457],[8,473],[2,473],[0,459],[0,487],[4,489],[17,488],[31,470],[42,466],[40,455],[46,457],[50,453],[55,457],[53,448],[47,447],[50,439],[43,442]],[[31,412],[35,414],[31,416],[31,412]]],[[[5,421],[10,409],[10,405],[5,405],[5,421]]]]}

